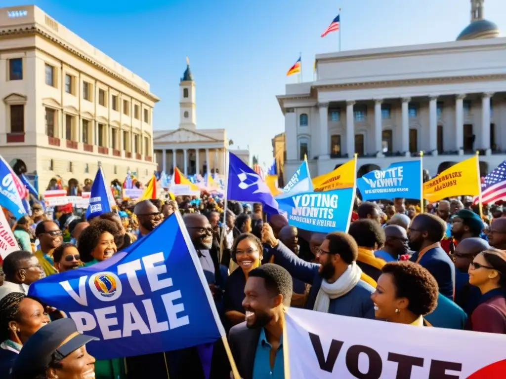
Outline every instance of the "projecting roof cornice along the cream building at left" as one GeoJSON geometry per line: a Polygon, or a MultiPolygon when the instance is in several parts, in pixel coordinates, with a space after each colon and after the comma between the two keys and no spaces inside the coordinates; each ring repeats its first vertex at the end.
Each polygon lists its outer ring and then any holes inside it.
{"type": "MultiPolygon", "coordinates": [[[[154,103],[157,103],[160,101],[160,99],[158,97],[156,97],[153,93],[151,92],[148,92],[142,88],[140,88],[138,85],[136,85],[135,83],[131,82],[130,80],[126,80],[124,77],[118,75],[117,73],[115,73],[114,71],[108,69],[107,67],[103,66],[102,64],[96,62],[95,60],[89,58],[88,56],[78,52],[77,50],[75,50],[74,48],[72,48],[72,46],[68,45],[67,43],[61,41],[60,39],[54,37],[53,35],[47,33],[46,31],[44,31],[43,29],[41,28],[38,28],[36,26],[29,26],[29,27],[24,27],[24,28],[18,28],[18,29],[7,29],[7,30],[1,30],[0,31],[0,39],[4,39],[4,38],[19,38],[19,37],[27,37],[27,36],[35,36],[35,35],[38,35],[40,37],[43,37],[53,43],[56,43],[57,45],[59,45],[62,49],[70,52],[71,54],[79,57],[80,59],[82,59],[83,61],[85,62],[88,62],[89,64],[91,64],[92,66],[98,68],[99,70],[107,73],[108,75],[112,76],[114,79],[122,82],[123,84],[126,84],[128,85],[129,87],[135,89],[136,91],[142,93],[144,96],[146,96],[149,100],[151,100],[152,102],[154,103]]],[[[37,48],[35,46],[35,48],[41,52],[44,52],[45,54],[48,54],[48,52],[40,49],[40,48],[37,48]]],[[[65,62],[66,65],[68,65],[67,62],[65,62]]],[[[72,66],[70,66],[72,67],[72,66]]],[[[75,67],[72,67],[74,69],[77,70],[77,68],[75,67]]]]}

